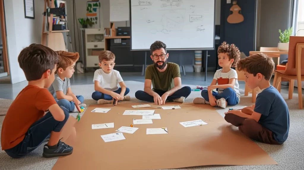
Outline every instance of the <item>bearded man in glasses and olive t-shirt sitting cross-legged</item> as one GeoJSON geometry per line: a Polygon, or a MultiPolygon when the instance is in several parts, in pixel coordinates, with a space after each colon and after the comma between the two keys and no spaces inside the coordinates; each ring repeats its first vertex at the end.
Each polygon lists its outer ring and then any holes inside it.
{"type": "Polygon", "coordinates": [[[144,91],[137,91],[135,97],[158,105],[164,105],[167,101],[185,102],[185,98],[191,93],[191,88],[181,87],[179,65],[167,62],[169,53],[166,45],[161,41],[155,41],[150,46],[150,52],[154,64],[146,69],[144,91]]]}

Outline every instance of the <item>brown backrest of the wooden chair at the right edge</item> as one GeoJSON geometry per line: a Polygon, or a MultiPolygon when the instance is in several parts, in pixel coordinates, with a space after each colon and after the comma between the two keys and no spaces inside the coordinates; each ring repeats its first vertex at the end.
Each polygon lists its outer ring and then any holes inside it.
{"type": "MultiPolygon", "coordinates": [[[[290,36],[289,37],[289,48],[288,48],[288,65],[285,70],[287,75],[297,75],[297,70],[295,69],[296,64],[296,46],[298,43],[304,43],[304,37],[300,36],[290,36]]],[[[304,48],[302,49],[301,56],[301,75],[304,75],[304,48]]]]}

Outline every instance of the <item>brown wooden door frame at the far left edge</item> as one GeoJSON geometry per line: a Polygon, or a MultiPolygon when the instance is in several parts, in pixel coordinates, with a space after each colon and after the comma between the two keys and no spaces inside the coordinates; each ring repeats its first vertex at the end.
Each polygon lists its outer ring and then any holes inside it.
{"type": "Polygon", "coordinates": [[[6,25],[5,25],[5,14],[4,14],[4,2],[0,0],[0,20],[1,20],[1,34],[2,34],[2,56],[4,64],[4,72],[9,75],[9,59],[7,55],[7,44],[6,44],[6,25]]]}

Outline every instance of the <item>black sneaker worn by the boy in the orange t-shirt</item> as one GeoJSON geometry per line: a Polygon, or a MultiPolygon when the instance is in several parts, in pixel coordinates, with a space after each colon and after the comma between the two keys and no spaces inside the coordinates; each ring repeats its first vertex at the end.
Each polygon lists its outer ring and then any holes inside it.
{"type": "Polygon", "coordinates": [[[57,156],[71,155],[72,152],[73,152],[73,147],[59,140],[58,147],[56,149],[49,149],[47,145],[44,145],[42,156],[44,158],[52,158],[57,156]]]}

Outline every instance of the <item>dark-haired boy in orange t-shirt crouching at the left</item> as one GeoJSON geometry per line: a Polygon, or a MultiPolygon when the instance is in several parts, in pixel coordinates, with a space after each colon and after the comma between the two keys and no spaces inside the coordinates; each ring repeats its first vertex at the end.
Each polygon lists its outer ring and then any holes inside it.
{"type": "Polygon", "coordinates": [[[76,121],[69,118],[68,109],[59,106],[47,90],[54,81],[57,54],[48,47],[32,44],[20,52],[18,62],[29,85],[18,94],[4,118],[2,150],[12,158],[20,158],[48,141],[43,157],[72,154],[73,147],[59,139],[76,137],[76,121]]]}

